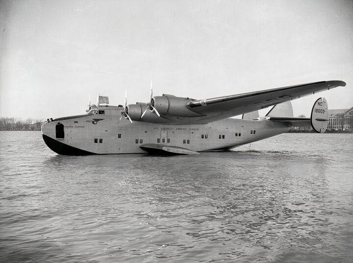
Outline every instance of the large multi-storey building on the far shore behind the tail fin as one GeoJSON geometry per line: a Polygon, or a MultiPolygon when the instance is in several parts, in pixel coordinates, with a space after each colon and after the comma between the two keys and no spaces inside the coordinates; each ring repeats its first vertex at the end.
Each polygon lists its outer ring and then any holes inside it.
{"type": "Polygon", "coordinates": [[[353,130],[353,107],[328,110],[328,130],[353,130]]]}

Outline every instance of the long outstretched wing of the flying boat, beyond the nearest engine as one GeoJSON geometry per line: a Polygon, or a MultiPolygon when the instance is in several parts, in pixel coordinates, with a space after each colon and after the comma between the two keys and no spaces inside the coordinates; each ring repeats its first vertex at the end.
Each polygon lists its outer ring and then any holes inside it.
{"type": "Polygon", "coordinates": [[[238,95],[193,100],[188,102],[187,107],[191,111],[203,115],[195,119],[190,118],[194,119],[193,123],[208,123],[260,110],[339,86],[344,87],[346,83],[340,80],[320,81],[238,95]]]}

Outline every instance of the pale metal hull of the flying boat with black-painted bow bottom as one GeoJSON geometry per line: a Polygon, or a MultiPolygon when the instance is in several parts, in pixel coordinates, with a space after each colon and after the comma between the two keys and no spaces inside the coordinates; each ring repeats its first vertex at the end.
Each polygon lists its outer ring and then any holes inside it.
{"type": "Polygon", "coordinates": [[[159,143],[191,151],[230,149],[288,131],[285,123],[225,119],[208,124],[166,125],[134,121],[119,115],[81,115],[42,125],[44,142],[58,154],[146,153],[140,146],[159,143]],[[58,128],[62,127],[61,133],[58,128]],[[255,132],[253,132],[255,131],[255,132]],[[57,138],[59,134],[59,137],[57,138]]]}

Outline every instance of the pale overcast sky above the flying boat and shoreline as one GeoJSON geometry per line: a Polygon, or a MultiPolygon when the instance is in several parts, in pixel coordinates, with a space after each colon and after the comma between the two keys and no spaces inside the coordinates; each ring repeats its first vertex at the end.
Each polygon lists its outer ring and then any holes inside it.
{"type": "Polygon", "coordinates": [[[352,0],[5,0],[0,30],[0,117],[147,102],[151,79],[196,99],[343,80],[294,114],[353,106],[352,0]]]}

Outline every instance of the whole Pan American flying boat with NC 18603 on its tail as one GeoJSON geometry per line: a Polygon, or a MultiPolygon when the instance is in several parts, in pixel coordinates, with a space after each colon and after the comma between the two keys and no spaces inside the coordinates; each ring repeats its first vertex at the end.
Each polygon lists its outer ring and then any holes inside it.
{"type": "Polygon", "coordinates": [[[150,100],[112,106],[98,96],[86,114],[48,119],[41,127],[44,142],[58,154],[200,154],[240,145],[311,125],[324,133],[328,103],[316,99],[310,118],[293,116],[291,100],[336,87],[340,80],[319,81],[230,96],[193,99],[163,94],[150,100]],[[258,110],[272,107],[264,116],[258,110]],[[242,119],[231,117],[242,115],[242,119]]]}

